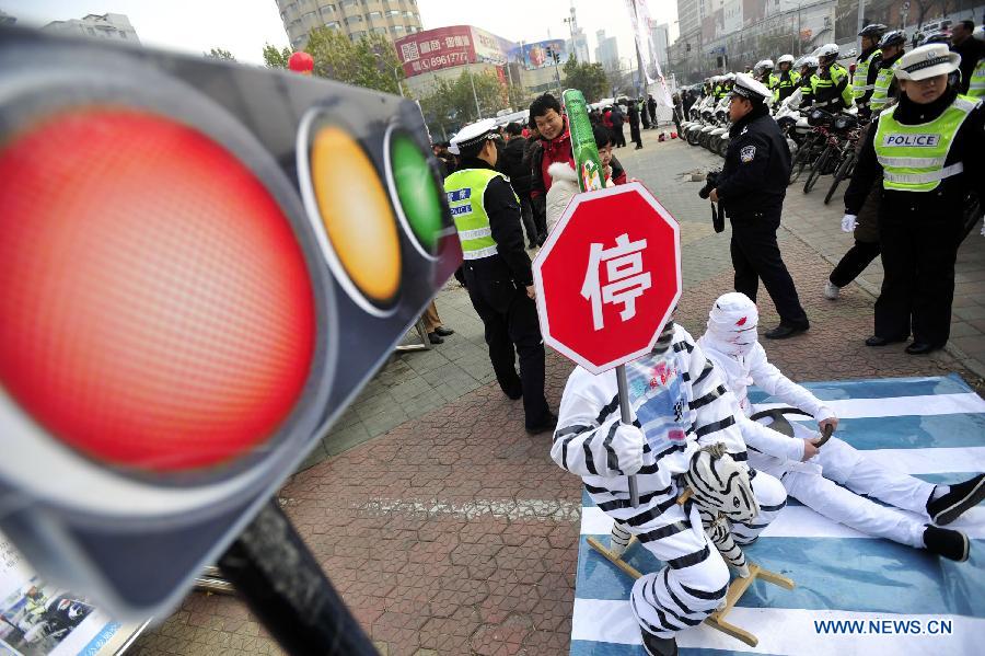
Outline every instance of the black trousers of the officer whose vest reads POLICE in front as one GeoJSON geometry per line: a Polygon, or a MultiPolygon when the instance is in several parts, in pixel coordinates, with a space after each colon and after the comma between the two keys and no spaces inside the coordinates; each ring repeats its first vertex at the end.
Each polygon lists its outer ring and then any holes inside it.
{"type": "MultiPolygon", "coordinates": [[[[948,208],[950,209],[950,208],[948,208]]],[[[900,212],[879,217],[882,249],[882,291],[876,301],[876,334],[943,346],[951,335],[954,261],[958,257],[960,212],[900,212]],[[937,218],[937,220],[935,220],[937,218]]]]}

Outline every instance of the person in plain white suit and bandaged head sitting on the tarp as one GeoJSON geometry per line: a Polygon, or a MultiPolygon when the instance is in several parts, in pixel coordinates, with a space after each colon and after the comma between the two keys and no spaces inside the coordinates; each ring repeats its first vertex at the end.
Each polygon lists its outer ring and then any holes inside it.
{"type": "Polygon", "coordinates": [[[957,485],[934,485],[885,469],[838,438],[833,437],[819,449],[814,446],[816,434],[799,424],[795,424],[795,435],[802,439],[745,418],[753,412],[748,388],[756,384],[783,403],[812,415],[822,429],[838,423],[820,399],[769,364],[757,339],[757,325],[756,304],[733,291],[715,301],[708,330],[698,339],[741,408],[743,421],[739,426],[749,445],[750,464],[778,477],[787,494],[833,521],[954,561],[967,560],[970,542],[964,533],[928,522],[950,523],[985,498],[985,474],[957,485]]]}

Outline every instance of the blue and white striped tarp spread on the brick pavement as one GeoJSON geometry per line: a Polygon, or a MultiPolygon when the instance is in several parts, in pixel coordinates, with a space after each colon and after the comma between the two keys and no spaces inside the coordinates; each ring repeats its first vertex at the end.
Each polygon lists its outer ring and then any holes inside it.
{"type": "MultiPolygon", "coordinates": [[[[985,471],[985,401],[958,376],[808,383],[828,401],[841,423],[837,436],[897,470],[934,483],[963,481],[985,471]]],[[[761,391],[757,408],[772,403],[761,391]]],[[[796,418],[796,417],[790,417],[796,418]]],[[[629,610],[633,582],[586,542],[607,544],[612,521],[583,495],[581,543],[571,628],[571,656],[642,654],[629,610]]],[[[901,510],[902,511],[902,510],[901,510]]],[[[709,626],[677,634],[683,655],[694,654],[983,654],[985,653],[985,507],[949,528],[972,538],[971,559],[954,563],[834,523],[810,508],[788,506],[746,549],[752,562],[791,577],[793,590],[757,580],[728,621],[754,633],[756,648],[709,626]],[[862,620],[865,634],[823,633],[815,621],[862,620]],[[950,621],[950,634],[903,633],[916,625],[869,620],[950,621]]],[[[646,573],[662,564],[633,544],[629,564],[646,573]]],[[[856,624],[856,629],[858,629],[856,624]]],[[[947,631],[947,624],[941,626],[947,631]]],[[[937,633],[940,633],[938,630],[937,633]]]]}

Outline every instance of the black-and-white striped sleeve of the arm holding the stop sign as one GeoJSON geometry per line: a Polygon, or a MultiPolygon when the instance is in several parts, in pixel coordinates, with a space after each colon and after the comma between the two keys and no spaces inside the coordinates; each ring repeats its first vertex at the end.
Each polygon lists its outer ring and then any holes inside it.
{"type": "Polygon", "coordinates": [[[607,401],[593,400],[602,389],[581,393],[572,389],[579,387],[578,382],[572,376],[565,388],[551,457],[563,469],[579,476],[623,475],[612,448],[622,418],[618,394],[613,392],[613,398],[607,401]]]}

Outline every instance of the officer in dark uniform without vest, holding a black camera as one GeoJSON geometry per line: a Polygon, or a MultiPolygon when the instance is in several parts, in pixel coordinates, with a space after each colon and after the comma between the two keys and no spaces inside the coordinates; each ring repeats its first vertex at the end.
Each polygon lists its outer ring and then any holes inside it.
{"type": "Polygon", "coordinates": [[[729,150],[710,198],[721,203],[732,222],[735,291],[755,301],[763,279],[780,315],[780,324],[765,335],[781,339],[802,333],[810,324],[776,243],[790,180],[790,149],[769,116],[766,99],[772,95],[752,77],[735,76],[729,104],[729,150]]]}

